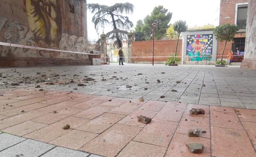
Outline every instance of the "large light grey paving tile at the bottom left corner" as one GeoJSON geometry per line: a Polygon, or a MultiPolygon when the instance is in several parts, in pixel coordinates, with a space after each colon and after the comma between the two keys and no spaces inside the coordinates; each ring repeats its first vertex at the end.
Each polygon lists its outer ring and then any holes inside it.
{"type": "Polygon", "coordinates": [[[52,148],[54,148],[54,146],[51,144],[27,139],[10,148],[2,150],[0,157],[15,157],[19,154],[23,154],[24,157],[38,157],[52,148]]]}

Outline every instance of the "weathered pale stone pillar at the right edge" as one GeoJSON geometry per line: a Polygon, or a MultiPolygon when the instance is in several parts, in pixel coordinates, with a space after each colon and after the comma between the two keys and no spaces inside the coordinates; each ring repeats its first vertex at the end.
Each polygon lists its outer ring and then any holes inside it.
{"type": "Polygon", "coordinates": [[[241,67],[256,69],[256,0],[249,0],[247,13],[245,59],[241,67]]]}

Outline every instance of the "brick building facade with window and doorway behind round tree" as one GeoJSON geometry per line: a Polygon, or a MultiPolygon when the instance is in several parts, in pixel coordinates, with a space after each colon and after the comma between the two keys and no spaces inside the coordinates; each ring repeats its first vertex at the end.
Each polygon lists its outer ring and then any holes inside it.
{"type": "MultiPolygon", "coordinates": [[[[235,34],[235,38],[226,44],[224,57],[227,58],[229,51],[233,51],[234,55],[245,54],[245,40],[247,27],[247,10],[248,0],[221,0],[219,12],[219,25],[236,24],[239,31],[235,34]]],[[[218,57],[221,58],[222,50],[225,42],[218,42],[218,57]]],[[[242,62],[243,56],[236,56],[233,62],[242,62]]]]}

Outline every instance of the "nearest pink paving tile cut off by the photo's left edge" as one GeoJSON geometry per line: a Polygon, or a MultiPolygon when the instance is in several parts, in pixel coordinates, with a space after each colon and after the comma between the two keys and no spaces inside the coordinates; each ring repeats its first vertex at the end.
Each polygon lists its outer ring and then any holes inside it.
{"type": "Polygon", "coordinates": [[[26,113],[22,113],[20,115],[15,115],[12,117],[5,118],[0,121],[0,129],[4,129],[10,126],[25,122],[27,120],[33,119],[35,117],[39,117],[44,114],[46,113],[43,113],[40,111],[29,111],[26,113]]]}

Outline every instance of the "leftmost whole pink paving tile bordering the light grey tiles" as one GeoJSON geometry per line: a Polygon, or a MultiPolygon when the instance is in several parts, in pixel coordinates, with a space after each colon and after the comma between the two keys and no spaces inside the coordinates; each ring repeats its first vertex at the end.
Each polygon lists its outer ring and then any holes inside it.
{"type": "Polygon", "coordinates": [[[43,128],[44,126],[47,126],[47,125],[37,123],[37,122],[32,122],[32,121],[26,121],[26,122],[11,126],[9,128],[5,128],[2,131],[6,133],[18,135],[18,136],[23,136],[23,135],[26,135],[27,133],[31,133],[34,130],[43,128]]]}

